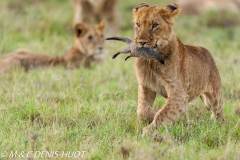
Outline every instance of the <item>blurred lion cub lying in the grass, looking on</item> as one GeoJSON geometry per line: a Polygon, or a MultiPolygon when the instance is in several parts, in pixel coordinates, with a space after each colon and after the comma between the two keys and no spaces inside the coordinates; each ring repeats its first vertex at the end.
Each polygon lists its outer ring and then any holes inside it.
{"type": "Polygon", "coordinates": [[[105,61],[104,28],[105,22],[96,26],[78,23],[74,27],[74,44],[65,55],[53,57],[20,49],[0,58],[0,71],[16,67],[24,67],[26,71],[50,66],[90,67],[91,63],[103,63],[105,61]]]}

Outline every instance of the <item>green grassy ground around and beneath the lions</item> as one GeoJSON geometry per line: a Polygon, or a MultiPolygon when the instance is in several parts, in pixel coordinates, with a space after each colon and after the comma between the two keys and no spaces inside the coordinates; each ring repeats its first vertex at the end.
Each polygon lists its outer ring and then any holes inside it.
{"type": "MultiPolygon", "coordinates": [[[[131,9],[138,3],[120,1],[124,12],[121,36],[133,37],[131,9]]],[[[62,55],[71,47],[69,1],[1,0],[0,6],[0,55],[17,48],[62,55]]],[[[180,16],[175,31],[185,44],[204,46],[213,54],[222,77],[228,123],[211,121],[210,112],[197,100],[189,107],[190,122],[183,115],[160,127],[159,136],[141,138],[146,124],[136,119],[134,58],[112,60],[111,55],[122,45],[116,42],[108,47],[105,66],[0,75],[0,159],[6,159],[1,157],[4,151],[86,151],[83,159],[239,160],[240,25],[206,27],[208,16],[180,16]]],[[[164,101],[158,97],[154,107],[164,101]]]]}

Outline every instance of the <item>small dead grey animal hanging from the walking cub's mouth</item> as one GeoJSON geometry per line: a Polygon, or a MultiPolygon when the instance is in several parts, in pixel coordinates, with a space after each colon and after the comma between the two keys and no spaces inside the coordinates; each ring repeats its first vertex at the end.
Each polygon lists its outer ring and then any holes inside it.
{"type": "Polygon", "coordinates": [[[125,61],[130,57],[145,57],[145,58],[153,58],[158,60],[160,63],[164,64],[164,57],[161,52],[157,51],[157,46],[154,47],[137,47],[134,44],[134,41],[129,38],[122,37],[110,37],[106,40],[118,40],[129,44],[127,47],[122,48],[116,54],[113,55],[113,59],[116,58],[119,54],[127,54],[130,53],[130,56],[125,58],[125,61]]]}

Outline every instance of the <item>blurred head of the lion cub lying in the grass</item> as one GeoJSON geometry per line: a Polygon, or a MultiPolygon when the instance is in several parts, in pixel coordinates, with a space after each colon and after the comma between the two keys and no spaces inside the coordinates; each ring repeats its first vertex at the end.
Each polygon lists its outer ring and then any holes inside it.
{"type": "Polygon", "coordinates": [[[86,26],[78,23],[74,27],[75,48],[86,56],[101,56],[104,54],[105,22],[96,26],[86,26]]]}

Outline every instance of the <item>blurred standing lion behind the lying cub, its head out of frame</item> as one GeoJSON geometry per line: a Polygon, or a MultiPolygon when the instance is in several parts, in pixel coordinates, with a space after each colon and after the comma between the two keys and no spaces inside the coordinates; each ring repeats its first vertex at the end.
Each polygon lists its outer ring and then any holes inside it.
{"type": "Polygon", "coordinates": [[[94,25],[101,20],[107,22],[107,35],[119,32],[120,12],[118,0],[71,0],[74,7],[74,23],[94,25]]]}

